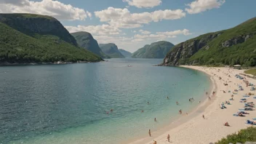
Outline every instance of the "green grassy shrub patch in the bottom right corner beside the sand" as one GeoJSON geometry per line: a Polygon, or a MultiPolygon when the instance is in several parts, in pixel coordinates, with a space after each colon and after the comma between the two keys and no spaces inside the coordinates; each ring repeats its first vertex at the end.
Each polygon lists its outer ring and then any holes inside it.
{"type": "Polygon", "coordinates": [[[247,129],[241,129],[239,132],[228,135],[227,137],[217,141],[217,143],[215,144],[245,142],[256,142],[256,127],[248,127],[247,129]]]}

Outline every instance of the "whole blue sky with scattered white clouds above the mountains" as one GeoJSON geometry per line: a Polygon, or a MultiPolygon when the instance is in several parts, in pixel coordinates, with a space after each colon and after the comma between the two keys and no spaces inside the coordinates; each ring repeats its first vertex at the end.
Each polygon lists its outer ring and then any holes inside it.
{"type": "Polygon", "coordinates": [[[129,52],[232,28],[255,17],[255,6],[255,0],[0,0],[0,12],[52,15],[70,32],[88,31],[129,52]]]}

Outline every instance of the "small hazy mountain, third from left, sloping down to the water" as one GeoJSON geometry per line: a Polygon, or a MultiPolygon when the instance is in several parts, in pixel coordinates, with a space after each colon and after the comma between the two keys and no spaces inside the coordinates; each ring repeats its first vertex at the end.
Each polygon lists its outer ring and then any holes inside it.
{"type": "Polygon", "coordinates": [[[121,55],[116,44],[100,44],[100,49],[103,50],[105,55],[108,55],[111,58],[124,58],[124,55],[121,55]]]}

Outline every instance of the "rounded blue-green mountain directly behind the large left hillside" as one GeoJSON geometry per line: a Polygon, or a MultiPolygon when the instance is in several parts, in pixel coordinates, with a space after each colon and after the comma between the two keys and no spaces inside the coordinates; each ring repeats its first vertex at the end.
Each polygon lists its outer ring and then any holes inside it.
{"type": "Polygon", "coordinates": [[[93,39],[91,33],[80,31],[76,33],[71,33],[71,35],[76,39],[76,42],[77,44],[79,44],[80,47],[83,47],[89,50],[90,52],[93,52],[96,55],[99,55],[102,58],[109,58],[100,49],[99,45],[97,44],[97,41],[93,39]]]}

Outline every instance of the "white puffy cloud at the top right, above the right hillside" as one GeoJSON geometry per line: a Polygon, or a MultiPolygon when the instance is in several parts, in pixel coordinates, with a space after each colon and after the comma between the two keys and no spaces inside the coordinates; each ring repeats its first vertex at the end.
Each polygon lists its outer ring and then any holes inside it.
{"type": "Polygon", "coordinates": [[[219,8],[224,3],[225,0],[196,0],[191,2],[191,4],[187,4],[190,8],[186,8],[185,11],[189,14],[197,14],[199,12],[204,12],[207,9],[219,8]]]}

